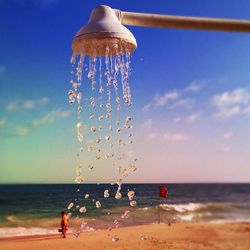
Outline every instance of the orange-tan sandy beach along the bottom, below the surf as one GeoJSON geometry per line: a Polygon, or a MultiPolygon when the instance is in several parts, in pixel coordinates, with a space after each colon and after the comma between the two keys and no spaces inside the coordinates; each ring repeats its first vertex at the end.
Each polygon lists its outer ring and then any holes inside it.
{"type": "Polygon", "coordinates": [[[208,249],[249,250],[250,224],[144,225],[68,235],[15,237],[0,240],[1,250],[208,249]],[[112,242],[117,235],[119,240],[112,242]]]}

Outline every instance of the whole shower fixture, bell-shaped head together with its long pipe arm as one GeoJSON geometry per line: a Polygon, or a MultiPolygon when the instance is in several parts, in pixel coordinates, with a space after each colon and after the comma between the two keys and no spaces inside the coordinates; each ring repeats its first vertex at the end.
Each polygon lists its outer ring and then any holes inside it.
{"type": "Polygon", "coordinates": [[[197,29],[229,32],[250,32],[250,21],[237,19],[204,18],[124,12],[106,5],[92,10],[88,24],[74,36],[74,54],[88,56],[115,55],[117,52],[132,53],[136,39],[124,25],[197,29]],[[107,49],[108,48],[108,49],[107,49]]]}

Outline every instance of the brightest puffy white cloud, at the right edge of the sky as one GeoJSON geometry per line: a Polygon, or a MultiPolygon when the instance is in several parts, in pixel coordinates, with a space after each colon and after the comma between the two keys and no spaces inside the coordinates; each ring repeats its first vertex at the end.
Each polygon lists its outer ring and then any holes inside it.
{"type": "Polygon", "coordinates": [[[211,101],[217,108],[215,113],[217,118],[226,119],[236,115],[250,114],[250,92],[247,89],[239,88],[226,91],[215,95],[211,101]]]}

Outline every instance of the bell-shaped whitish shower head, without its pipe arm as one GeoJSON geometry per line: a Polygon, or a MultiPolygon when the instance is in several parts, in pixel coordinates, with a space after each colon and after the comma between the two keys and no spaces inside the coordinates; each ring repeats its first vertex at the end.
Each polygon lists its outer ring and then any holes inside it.
{"type": "Polygon", "coordinates": [[[73,38],[73,53],[87,56],[116,55],[127,51],[132,53],[137,47],[135,37],[121,24],[118,16],[119,11],[106,5],[93,9],[88,24],[73,38]]]}

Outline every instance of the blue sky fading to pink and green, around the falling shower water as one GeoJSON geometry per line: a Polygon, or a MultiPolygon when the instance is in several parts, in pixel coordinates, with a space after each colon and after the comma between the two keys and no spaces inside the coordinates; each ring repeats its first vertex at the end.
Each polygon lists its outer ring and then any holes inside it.
{"type": "MultiPolygon", "coordinates": [[[[0,183],[74,179],[71,41],[99,4],[250,20],[247,0],[1,0],[0,183]]],[[[249,182],[249,34],[128,28],[138,43],[130,84],[139,158],[128,181],[249,182]]]]}

